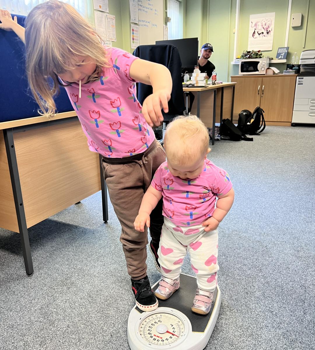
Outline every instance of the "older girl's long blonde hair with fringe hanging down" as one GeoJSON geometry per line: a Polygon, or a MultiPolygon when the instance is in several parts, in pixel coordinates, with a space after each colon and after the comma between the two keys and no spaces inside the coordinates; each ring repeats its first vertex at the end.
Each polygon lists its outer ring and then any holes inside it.
{"type": "Polygon", "coordinates": [[[35,6],[25,22],[26,71],[38,113],[54,115],[53,99],[59,92],[57,74],[69,71],[77,64],[78,56],[89,56],[96,63],[90,81],[100,77],[108,66],[102,39],[89,23],[69,4],[49,0],[35,6]],[[51,77],[54,85],[48,83],[51,77]]]}

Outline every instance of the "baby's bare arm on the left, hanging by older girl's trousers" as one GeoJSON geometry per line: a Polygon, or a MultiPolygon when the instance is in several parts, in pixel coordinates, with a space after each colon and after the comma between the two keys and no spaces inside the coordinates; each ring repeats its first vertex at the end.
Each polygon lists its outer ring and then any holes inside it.
{"type": "Polygon", "coordinates": [[[135,230],[144,232],[145,224],[150,227],[150,214],[161,198],[162,193],[150,185],[142,198],[139,213],[133,223],[135,230]]]}

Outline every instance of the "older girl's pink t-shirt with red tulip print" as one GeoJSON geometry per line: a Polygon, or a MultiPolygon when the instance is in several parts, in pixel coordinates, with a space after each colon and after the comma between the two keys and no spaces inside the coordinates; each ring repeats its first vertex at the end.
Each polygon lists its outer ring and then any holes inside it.
{"type": "Polygon", "coordinates": [[[117,48],[108,48],[109,68],[100,79],[81,85],[71,83],[65,89],[90,151],[104,157],[123,158],[144,152],[155,140],[152,128],[142,116],[135,81],[129,69],[137,57],[117,48]]]}

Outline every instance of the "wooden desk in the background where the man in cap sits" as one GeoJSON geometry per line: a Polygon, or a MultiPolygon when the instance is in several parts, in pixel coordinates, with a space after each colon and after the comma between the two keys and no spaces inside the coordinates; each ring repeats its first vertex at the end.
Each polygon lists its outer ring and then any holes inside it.
{"type": "Polygon", "coordinates": [[[193,105],[192,114],[196,114],[205,126],[212,127],[212,145],[215,141],[215,123],[222,124],[224,116],[233,118],[234,94],[236,83],[222,83],[207,87],[183,87],[184,92],[197,95],[197,105],[193,105]],[[226,95],[224,99],[224,95],[226,95]],[[216,105],[220,102],[220,111],[216,105]]]}

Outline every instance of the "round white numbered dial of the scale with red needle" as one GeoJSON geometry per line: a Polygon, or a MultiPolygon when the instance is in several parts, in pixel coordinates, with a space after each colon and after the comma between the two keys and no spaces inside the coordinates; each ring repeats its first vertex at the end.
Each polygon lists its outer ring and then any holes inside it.
{"type": "Polygon", "coordinates": [[[146,317],[139,325],[139,334],[152,345],[176,343],[185,333],[183,321],[172,314],[160,312],[146,317]]]}

